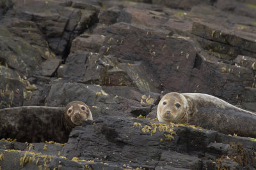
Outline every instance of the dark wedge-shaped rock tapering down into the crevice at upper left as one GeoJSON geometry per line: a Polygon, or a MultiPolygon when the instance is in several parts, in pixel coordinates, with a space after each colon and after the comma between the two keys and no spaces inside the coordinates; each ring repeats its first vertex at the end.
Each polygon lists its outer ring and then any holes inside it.
{"type": "Polygon", "coordinates": [[[16,2],[13,8],[27,20],[33,20],[46,37],[51,49],[60,55],[67,50],[72,39],[97,22],[99,12],[86,2],[71,2],[70,6],[62,6],[58,1],[30,0],[25,4],[16,2]],[[22,6],[26,6],[26,10],[22,6]]]}

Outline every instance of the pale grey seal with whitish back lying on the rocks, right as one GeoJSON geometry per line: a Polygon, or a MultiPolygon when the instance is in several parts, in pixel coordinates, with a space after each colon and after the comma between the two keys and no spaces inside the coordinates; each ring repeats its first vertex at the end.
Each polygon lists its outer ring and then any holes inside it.
{"type": "Polygon", "coordinates": [[[256,114],[218,97],[200,93],[171,92],[157,106],[159,122],[191,124],[223,134],[256,138],[256,114]]]}

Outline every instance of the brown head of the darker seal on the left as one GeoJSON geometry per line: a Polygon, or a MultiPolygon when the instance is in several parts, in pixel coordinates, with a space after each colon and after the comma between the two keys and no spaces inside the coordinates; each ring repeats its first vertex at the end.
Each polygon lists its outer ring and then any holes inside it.
{"type": "Polygon", "coordinates": [[[81,101],[72,101],[67,104],[63,115],[63,124],[67,131],[71,131],[83,120],[93,120],[89,107],[81,101]]]}

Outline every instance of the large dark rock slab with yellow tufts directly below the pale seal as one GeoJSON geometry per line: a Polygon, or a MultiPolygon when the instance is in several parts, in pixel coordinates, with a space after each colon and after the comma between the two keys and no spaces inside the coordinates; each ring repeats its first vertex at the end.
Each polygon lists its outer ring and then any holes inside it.
{"type": "Polygon", "coordinates": [[[255,157],[251,154],[251,150],[256,149],[255,141],[239,137],[243,144],[240,141],[236,144],[233,143],[236,138],[193,126],[102,115],[95,124],[83,124],[73,129],[61,155],[68,159],[100,160],[124,168],[204,169],[220,166],[239,169],[242,165],[255,168],[255,157]],[[212,157],[211,163],[207,162],[207,154],[212,157]]]}

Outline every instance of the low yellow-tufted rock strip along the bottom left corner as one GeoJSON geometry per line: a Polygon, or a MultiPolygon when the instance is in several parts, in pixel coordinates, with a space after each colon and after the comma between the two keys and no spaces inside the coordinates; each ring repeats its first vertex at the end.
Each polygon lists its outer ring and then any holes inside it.
{"type": "Polygon", "coordinates": [[[20,150],[1,150],[0,165],[4,169],[120,169],[90,160],[68,160],[58,155],[43,155],[42,153],[24,152],[20,150]],[[19,160],[19,161],[18,161],[19,160]]]}

